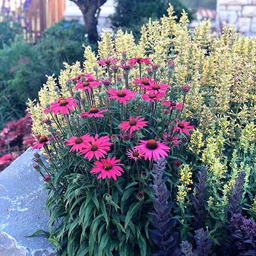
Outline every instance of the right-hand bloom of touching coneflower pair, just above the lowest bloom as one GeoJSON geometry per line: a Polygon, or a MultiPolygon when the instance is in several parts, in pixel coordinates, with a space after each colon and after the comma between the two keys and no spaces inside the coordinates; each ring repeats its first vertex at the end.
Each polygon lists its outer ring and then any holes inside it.
{"type": "Polygon", "coordinates": [[[110,146],[112,145],[109,140],[109,136],[99,138],[99,135],[96,134],[95,138],[91,137],[86,147],[81,150],[81,154],[84,154],[84,158],[87,158],[89,161],[91,161],[93,157],[99,160],[101,157],[108,154],[107,151],[110,150],[110,146]]]}

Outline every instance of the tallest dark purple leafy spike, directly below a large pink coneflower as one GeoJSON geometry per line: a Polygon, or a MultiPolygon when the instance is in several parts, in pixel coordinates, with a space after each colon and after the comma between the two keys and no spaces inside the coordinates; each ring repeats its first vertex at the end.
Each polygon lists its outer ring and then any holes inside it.
{"type": "Polygon", "coordinates": [[[170,211],[173,203],[168,203],[170,192],[166,189],[163,174],[166,166],[166,160],[161,158],[154,164],[151,172],[154,184],[154,210],[152,213],[152,224],[155,229],[150,230],[150,236],[159,250],[152,255],[154,256],[176,256],[180,255],[179,246],[177,246],[178,233],[171,233],[175,226],[176,220],[170,218],[170,211]]]}

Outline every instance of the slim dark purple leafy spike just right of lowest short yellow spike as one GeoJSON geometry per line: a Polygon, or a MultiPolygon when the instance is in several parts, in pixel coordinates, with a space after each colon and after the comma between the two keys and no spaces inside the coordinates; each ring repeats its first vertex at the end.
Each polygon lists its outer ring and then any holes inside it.
{"type": "Polygon", "coordinates": [[[191,202],[195,208],[195,228],[199,229],[204,227],[204,221],[206,216],[205,211],[205,196],[207,192],[206,180],[207,180],[207,168],[203,167],[196,175],[198,182],[195,183],[195,195],[191,195],[191,202]]]}

